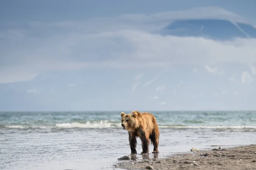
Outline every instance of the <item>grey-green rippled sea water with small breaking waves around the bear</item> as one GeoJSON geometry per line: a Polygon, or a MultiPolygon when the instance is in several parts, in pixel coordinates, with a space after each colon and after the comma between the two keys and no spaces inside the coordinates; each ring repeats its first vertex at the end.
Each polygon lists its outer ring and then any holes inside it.
{"type": "MultiPolygon", "coordinates": [[[[0,169],[113,169],[131,150],[116,112],[0,112],[0,169]]],[[[125,112],[128,113],[128,112],[125,112]]],[[[160,129],[159,154],[256,143],[255,111],[151,111],[160,129]]],[[[142,151],[137,139],[137,153],[142,151]]]]}

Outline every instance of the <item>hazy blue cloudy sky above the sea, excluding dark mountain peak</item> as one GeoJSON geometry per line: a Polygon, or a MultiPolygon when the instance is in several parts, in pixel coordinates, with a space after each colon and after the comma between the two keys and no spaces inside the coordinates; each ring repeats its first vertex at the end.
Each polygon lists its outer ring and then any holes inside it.
{"type": "Polygon", "coordinates": [[[256,39],[155,34],[175,19],[256,26],[255,0],[1,0],[0,111],[254,110],[256,39]]]}

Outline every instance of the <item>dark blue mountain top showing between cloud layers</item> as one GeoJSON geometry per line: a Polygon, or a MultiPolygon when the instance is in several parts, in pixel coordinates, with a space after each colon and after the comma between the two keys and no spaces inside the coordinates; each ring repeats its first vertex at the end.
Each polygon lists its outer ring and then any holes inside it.
{"type": "Polygon", "coordinates": [[[235,37],[256,38],[256,28],[249,24],[233,23],[229,20],[190,19],[175,20],[163,28],[161,34],[231,40],[235,37]]]}

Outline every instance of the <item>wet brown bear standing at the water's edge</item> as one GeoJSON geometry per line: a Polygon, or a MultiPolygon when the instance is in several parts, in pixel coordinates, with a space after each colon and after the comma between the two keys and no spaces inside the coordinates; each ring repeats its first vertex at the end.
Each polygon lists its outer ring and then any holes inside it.
{"type": "Polygon", "coordinates": [[[152,153],[159,153],[158,141],[160,132],[157,125],[156,118],[148,112],[140,113],[139,111],[132,111],[131,114],[121,113],[121,125],[123,130],[127,130],[129,134],[129,143],[131,153],[137,154],[137,137],[140,137],[142,144],[142,152],[148,153],[149,139],[154,145],[152,153]]]}

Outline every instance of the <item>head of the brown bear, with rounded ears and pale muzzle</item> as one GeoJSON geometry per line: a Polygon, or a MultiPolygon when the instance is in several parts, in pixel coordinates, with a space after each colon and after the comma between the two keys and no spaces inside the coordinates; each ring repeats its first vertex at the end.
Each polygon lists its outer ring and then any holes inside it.
{"type": "Polygon", "coordinates": [[[137,112],[132,112],[132,114],[125,114],[124,112],[121,113],[121,125],[123,130],[132,130],[136,127],[136,118],[138,114],[137,112]]]}

